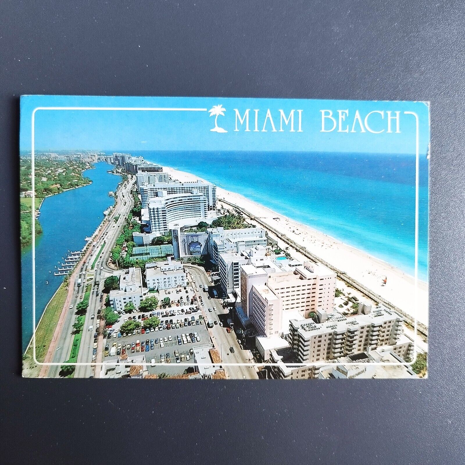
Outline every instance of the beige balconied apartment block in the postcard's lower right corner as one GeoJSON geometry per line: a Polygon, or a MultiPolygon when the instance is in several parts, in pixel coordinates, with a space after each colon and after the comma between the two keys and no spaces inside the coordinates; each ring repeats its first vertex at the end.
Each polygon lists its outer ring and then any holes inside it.
{"type": "Polygon", "coordinates": [[[382,306],[349,318],[334,312],[322,323],[291,320],[289,343],[298,363],[338,359],[380,346],[392,346],[405,358],[413,345],[401,338],[403,321],[398,313],[382,306]]]}

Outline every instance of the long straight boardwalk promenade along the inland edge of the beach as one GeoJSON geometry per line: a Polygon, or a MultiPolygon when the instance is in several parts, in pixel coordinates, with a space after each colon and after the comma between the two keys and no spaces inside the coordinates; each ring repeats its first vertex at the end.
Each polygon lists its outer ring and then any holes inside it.
{"type": "Polygon", "coordinates": [[[260,226],[263,226],[268,232],[274,234],[278,239],[281,239],[283,242],[300,252],[302,255],[305,257],[311,259],[314,262],[321,263],[325,266],[327,266],[330,270],[336,273],[336,276],[338,279],[341,281],[345,282],[345,284],[352,286],[354,289],[357,289],[359,292],[362,292],[364,295],[366,295],[368,298],[383,304],[387,306],[388,308],[398,312],[400,315],[402,315],[405,318],[405,321],[412,325],[413,327],[416,327],[419,332],[427,336],[428,334],[428,327],[424,325],[423,323],[417,321],[414,319],[412,316],[408,315],[405,311],[401,310],[398,306],[393,305],[391,302],[388,300],[384,299],[381,297],[379,294],[376,292],[373,292],[371,289],[368,289],[366,286],[361,284],[359,281],[356,279],[353,279],[350,277],[346,272],[343,272],[336,268],[335,266],[332,266],[330,263],[326,262],[325,260],[319,258],[317,255],[315,255],[312,252],[309,252],[306,247],[301,246],[297,244],[295,241],[292,239],[289,239],[285,234],[279,232],[276,230],[274,227],[270,226],[267,224],[265,221],[262,219],[258,218],[257,216],[253,215],[252,213],[248,212],[245,208],[242,208],[240,206],[237,206],[231,202],[228,202],[225,199],[219,199],[220,202],[236,209],[238,212],[242,213],[244,216],[248,217],[251,221],[256,221],[259,223],[260,226]]]}

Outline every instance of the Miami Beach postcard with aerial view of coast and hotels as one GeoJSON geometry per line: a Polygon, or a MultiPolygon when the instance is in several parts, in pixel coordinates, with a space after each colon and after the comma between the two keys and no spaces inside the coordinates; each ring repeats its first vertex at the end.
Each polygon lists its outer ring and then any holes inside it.
{"type": "Polygon", "coordinates": [[[420,379],[429,104],[26,95],[23,376],[420,379]]]}

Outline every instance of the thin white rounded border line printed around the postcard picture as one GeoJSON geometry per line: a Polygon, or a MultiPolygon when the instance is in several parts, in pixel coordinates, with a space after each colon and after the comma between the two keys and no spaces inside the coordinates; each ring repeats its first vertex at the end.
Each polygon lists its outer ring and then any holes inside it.
{"type": "MultiPolygon", "coordinates": [[[[31,117],[31,179],[32,179],[32,202],[35,205],[35,172],[34,172],[34,152],[35,152],[35,113],[42,110],[97,110],[97,111],[186,111],[186,112],[206,112],[206,108],[169,108],[169,107],[96,107],[96,106],[38,106],[34,108],[31,117]]],[[[419,243],[419,117],[418,114],[415,112],[405,111],[405,115],[412,115],[415,117],[415,126],[416,126],[416,137],[415,137],[415,154],[416,154],[416,162],[415,162],[415,272],[414,272],[414,307],[415,307],[415,316],[414,316],[414,334],[415,339],[418,338],[418,327],[417,327],[417,315],[418,315],[418,243],[419,243]]],[[[428,112],[429,114],[429,112],[428,112]]],[[[36,359],[36,348],[35,348],[35,332],[36,332],[36,318],[35,318],[35,209],[32,209],[33,221],[32,221],[32,287],[33,287],[33,336],[32,336],[32,343],[33,343],[33,360],[38,366],[61,366],[61,365],[73,365],[73,366],[97,366],[97,365],[140,365],[140,363],[136,362],[76,362],[76,363],[66,363],[66,362],[39,362],[36,359]]],[[[45,309],[44,309],[45,312],[45,309]]],[[[429,313],[429,309],[428,309],[429,313]]],[[[400,366],[400,365],[412,365],[416,358],[417,358],[417,347],[415,341],[413,341],[413,359],[411,362],[368,362],[363,363],[363,365],[381,365],[381,366],[400,366]]],[[[146,362],[147,363],[147,362],[146,362]]],[[[161,363],[156,363],[155,365],[164,365],[161,363]]],[[[280,366],[280,363],[196,363],[195,365],[201,366],[250,366],[250,367],[258,367],[258,366],[280,366]]],[[[299,368],[305,366],[324,366],[324,365],[357,365],[360,366],[360,363],[344,363],[338,364],[335,362],[331,362],[329,360],[321,360],[318,362],[312,363],[295,363],[289,364],[287,366],[291,366],[292,368],[299,368]]],[[[188,363],[178,363],[176,366],[192,366],[192,364],[188,363]]]]}

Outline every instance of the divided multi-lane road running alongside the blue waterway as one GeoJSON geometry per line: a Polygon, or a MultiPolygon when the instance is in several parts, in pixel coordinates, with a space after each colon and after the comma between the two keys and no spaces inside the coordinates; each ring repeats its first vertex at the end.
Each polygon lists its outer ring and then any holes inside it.
{"type": "MultiPolygon", "coordinates": [[[[102,272],[111,272],[112,270],[106,265],[106,261],[111,253],[115,240],[118,238],[126,219],[127,214],[133,206],[133,197],[131,195],[131,189],[134,184],[134,178],[128,179],[118,190],[115,199],[115,206],[113,212],[106,221],[102,230],[97,234],[95,240],[95,247],[93,252],[87,255],[85,261],[79,263],[76,268],[76,280],[80,277],[82,280],[82,285],[78,286],[75,292],[73,292],[73,298],[71,305],[73,308],[68,308],[66,310],[65,320],[61,328],[58,340],[55,344],[56,350],[53,353],[52,362],[62,363],[66,361],[71,352],[71,347],[73,344],[73,324],[76,321],[76,306],[84,298],[86,291],[87,279],[89,279],[88,284],[91,284],[91,294],[89,298],[89,306],[86,312],[86,320],[84,323],[82,339],[80,344],[80,352],[78,355],[78,363],[91,363],[93,355],[93,336],[96,326],[96,315],[97,309],[100,304],[100,294],[99,288],[103,286],[104,276],[102,272]],[[126,205],[125,205],[126,203],[126,205]],[[119,215],[119,219],[115,223],[114,218],[119,215]],[[99,259],[97,260],[94,270],[91,270],[93,261],[98,254],[100,247],[105,242],[105,246],[100,253],[99,259]],[[101,267],[103,266],[103,269],[101,267]],[[81,274],[82,273],[82,274],[81,274]],[[92,280],[90,280],[92,278],[92,280]],[[102,282],[100,286],[94,286],[95,279],[102,282]],[[95,319],[91,319],[91,315],[95,315],[95,319]],[[89,326],[93,325],[94,330],[88,331],[89,326]]],[[[47,377],[56,378],[60,373],[60,365],[50,366],[48,372],[46,373],[47,377]]],[[[93,367],[92,367],[93,374],[93,367]]],[[[77,366],[74,372],[75,377],[88,377],[91,375],[91,366],[77,366]]]]}

